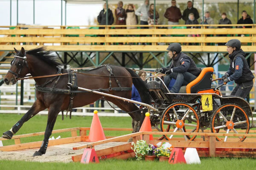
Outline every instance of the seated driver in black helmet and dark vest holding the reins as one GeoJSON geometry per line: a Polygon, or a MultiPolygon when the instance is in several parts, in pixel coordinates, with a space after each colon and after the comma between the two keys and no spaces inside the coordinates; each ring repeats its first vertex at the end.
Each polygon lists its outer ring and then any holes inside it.
{"type": "Polygon", "coordinates": [[[172,59],[171,65],[167,68],[156,69],[156,73],[164,73],[167,76],[164,77],[164,83],[168,86],[171,78],[176,79],[170,92],[178,93],[182,85],[187,85],[192,82],[201,72],[200,68],[197,68],[193,59],[181,52],[181,45],[179,43],[172,43],[167,48],[168,55],[172,59]]]}

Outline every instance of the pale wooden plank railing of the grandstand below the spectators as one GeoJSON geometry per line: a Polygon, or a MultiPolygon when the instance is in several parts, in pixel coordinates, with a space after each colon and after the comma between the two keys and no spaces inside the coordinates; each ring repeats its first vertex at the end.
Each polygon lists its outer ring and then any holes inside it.
{"type": "Polygon", "coordinates": [[[12,51],[13,47],[19,49],[23,46],[29,50],[38,47],[38,45],[48,45],[48,49],[54,51],[161,52],[166,51],[169,43],[180,42],[183,45],[183,51],[226,52],[226,47],[223,45],[209,44],[224,43],[237,38],[243,43],[242,49],[244,51],[256,52],[256,25],[254,24],[179,26],[199,26],[201,28],[167,29],[165,28],[166,25],[162,25],[149,26],[152,27],[151,29],[119,29],[120,26],[100,26],[104,29],[88,29],[90,26],[84,26],[80,29],[67,29],[68,26],[54,26],[54,28],[49,28],[50,26],[17,26],[15,29],[6,29],[8,26],[0,26],[0,35],[4,36],[0,37],[0,49],[12,51]],[[207,28],[209,26],[251,26],[252,28],[207,28]],[[113,27],[114,29],[112,29],[113,27]],[[187,37],[192,34],[196,36],[187,37]],[[240,34],[245,34],[246,37],[241,37],[240,34]],[[119,37],[118,35],[124,36],[119,37]],[[149,37],[140,37],[140,35],[149,37]],[[224,37],[218,37],[218,35],[224,37]],[[141,46],[137,43],[148,44],[141,46]],[[195,45],[195,43],[197,44],[195,45]]]}

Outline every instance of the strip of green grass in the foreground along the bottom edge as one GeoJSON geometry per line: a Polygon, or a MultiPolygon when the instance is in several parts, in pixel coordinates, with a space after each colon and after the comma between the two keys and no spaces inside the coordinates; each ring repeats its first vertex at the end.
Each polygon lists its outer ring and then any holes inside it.
{"type": "Polygon", "coordinates": [[[32,170],[238,170],[246,168],[254,170],[256,167],[255,159],[229,159],[229,158],[202,158],[201,164],[169,164],[166,162],[146,162],[129,160],[108,159],[100,161],[99,164],[77,163],[40,163],[27,161],[6,161],[0,160],[0,170],[32,169],[32,170]]]}

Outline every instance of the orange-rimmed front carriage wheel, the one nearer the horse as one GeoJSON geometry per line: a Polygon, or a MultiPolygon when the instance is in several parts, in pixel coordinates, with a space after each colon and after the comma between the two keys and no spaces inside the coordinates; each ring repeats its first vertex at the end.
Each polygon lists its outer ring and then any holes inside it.
{"type": "MultiPolygon", "coordinates": [[[[199,119],[195,109],[186,103],[174,103],[169,105],[161,116],[160,127],[163,132],[169,132],[173,128],[173,132],[180,130],[187,132],[186,129],[192,129],[191,132],[199,131],[199,119]]],[[[163,135],[166,139],[171,140],[173,135],[163,135]]],[[[186,136],[185,140],[195,139],[195,135],[186,136]]]]}

